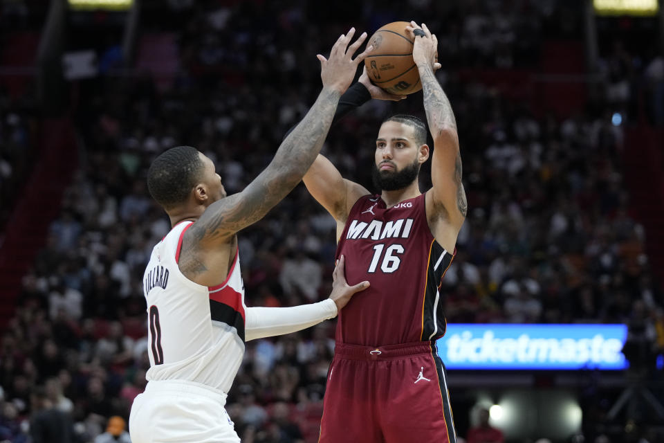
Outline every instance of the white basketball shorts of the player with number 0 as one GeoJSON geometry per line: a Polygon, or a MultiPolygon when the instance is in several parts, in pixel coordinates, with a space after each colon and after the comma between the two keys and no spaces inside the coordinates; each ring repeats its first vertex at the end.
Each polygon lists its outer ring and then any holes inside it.
{"type": "Polygon", "coordinates": [[[223,392],[187,381],[149,381],[131,405],[132,443],[240,443],[223,392]]]}

